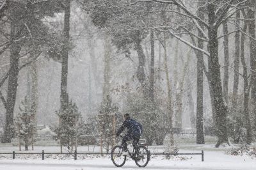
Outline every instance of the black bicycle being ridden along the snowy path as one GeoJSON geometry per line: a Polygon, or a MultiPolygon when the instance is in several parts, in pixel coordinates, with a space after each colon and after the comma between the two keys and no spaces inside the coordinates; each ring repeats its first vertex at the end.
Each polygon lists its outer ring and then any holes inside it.
{"type": "MultiPolygon", "coordinates": [[[[124,136],[120,136],[124,137],[124,136]]],[[[130,156],[132,160],[135,161],[136,165],[138,167],[145,167],[148,164],[148,161],[150,160],[150,152],[147,150],[147,148],[140,143],[136,144],[136,146],[132,145],[132,153],[128,151],[127,156],[130,156]]],[[[127,146],[129,146],[127,144],[127,146]]],[[[125,164],[126,157],[127,156],[122,156],[122,153],[124,151],[124,146],[122,145],[117,145],[111,150],[111,160],[113,164],[117,167],[122,167],[125,164]]]]}

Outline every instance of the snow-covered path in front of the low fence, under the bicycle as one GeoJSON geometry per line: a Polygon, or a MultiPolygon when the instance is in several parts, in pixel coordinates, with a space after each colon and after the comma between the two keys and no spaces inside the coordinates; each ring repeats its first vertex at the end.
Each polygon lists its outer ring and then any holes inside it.
{"type": "MultiPolygon", "coordinates": [[[[244,156],[225,155],[221,151],[206,151],[205,161],[201,162],[200,157],[195,156],[188,160],[173,158],[152,158],[148,166],[143,169],[188,169],[188,170],[254,170],[256,160],[244,156]]],[[[85,160],[54,160],[54,159],[15,159],[0,160],[0,170],[95,170],[95,169],[141,169],[128,160],[124,167],[115,167],[109,158],[88,158],[85,160]]]]}

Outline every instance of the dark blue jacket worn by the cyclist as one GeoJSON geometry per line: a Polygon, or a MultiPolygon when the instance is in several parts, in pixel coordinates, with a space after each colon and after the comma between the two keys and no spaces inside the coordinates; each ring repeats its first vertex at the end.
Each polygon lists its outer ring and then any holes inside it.
{"type": "Polygon", "coordinates": [[[132,120],[131,118],[128,118],[127,120],[124,121],[122,126],[119,128],[116,135],[117,136],[120,135],[125,128],[127,128],[128,134],[131,134],[137,137],[140,137],[140,135],[143,133],[142,125],[137,121],[132,120]]]}

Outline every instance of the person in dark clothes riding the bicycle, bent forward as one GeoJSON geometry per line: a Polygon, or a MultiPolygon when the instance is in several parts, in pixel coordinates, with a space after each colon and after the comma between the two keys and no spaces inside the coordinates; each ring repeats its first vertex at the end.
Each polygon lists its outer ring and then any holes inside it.
{"type": "Polygon", "coordinates": [[[136,146],[140,140],[141,134],[143,133],[142,125],[137,121],[132,120],[128,113],[124,114],[124,123],[117,131],[116,136],[120,135],[125,128],[127,128],[128,132],[122,141],[122,146],[124,146],[124,152],[122,153],[123,156],[128,155],[126,142],[133,140],[132,145],[136,146]]]}

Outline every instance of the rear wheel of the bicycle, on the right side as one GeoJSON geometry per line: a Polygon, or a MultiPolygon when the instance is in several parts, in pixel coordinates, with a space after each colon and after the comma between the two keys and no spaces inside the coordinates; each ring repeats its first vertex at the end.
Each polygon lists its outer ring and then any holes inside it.
{"type": "Polygon", "coordinates": [[[138,146],[135,152],[135,163],[138,167],[145,167],[150,160],[150,153],[145,146],[138,146]]]}

